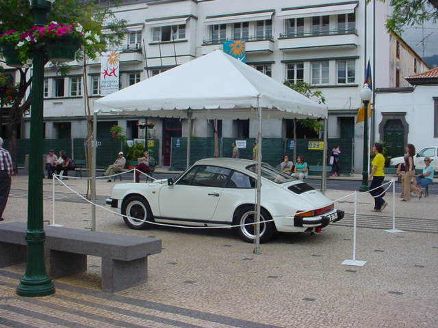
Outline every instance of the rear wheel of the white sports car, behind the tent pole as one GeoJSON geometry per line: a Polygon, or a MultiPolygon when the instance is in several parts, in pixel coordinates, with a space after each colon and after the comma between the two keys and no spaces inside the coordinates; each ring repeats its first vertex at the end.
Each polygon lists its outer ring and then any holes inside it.
{"type": "MultiPolygon", "coordinates": [[[[261,208],[260,221],[268,221],[272,219],[267,210],[261,208]]],[[[244,206],[237,211],[234,219],[234,225],[242,225],[245,223],[255,222],[254,206],[244,206]]],[[[255,240],[255,225],[235,227],[235,232],[247,243],[254,243],[255,240]]],[[[273,221],[260,223],[260,243],[270,241],[275,234],[275,224],[273,221]]]]}

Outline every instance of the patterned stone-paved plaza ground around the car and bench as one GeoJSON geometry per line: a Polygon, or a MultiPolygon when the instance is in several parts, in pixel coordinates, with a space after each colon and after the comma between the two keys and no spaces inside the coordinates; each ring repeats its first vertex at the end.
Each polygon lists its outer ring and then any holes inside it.
{"type": "MultiPolygon", "coordinates": [[[[86,193],[85,180],[65,181],[86,193]]],[[[99,204],[114,183],[97,182],[99,204]]],[[[51,180],[44,180],[44,220],[52,220],[51,180]]],[[[55,186],[55,223],[91,226],[90,205],[55,186]]],[[[333,200],[351,191],[330,190],[333,200]]],[[[353,198],[337,203],[346,218],[322,234],[278,234],[261,255],[227,229],[155,227],[130,230],[112,213],[97,210],[98,231],[155,236],[161,254],[149,257],[145,284],[109,294],[100,288],[100,258],[88,271],[55,279],[56,293],[18,297],[24,265],[0,269],[0,327],[438,327],[437,195],[400,202],[392,194],[382,213],[358,195],[357,260],[352,258],[353,198]]],[[[14,176],[5,222],[27,219],[27,176],[14,176]]],[[[1,224],[1,223],[0,223],[1,224]]]]}

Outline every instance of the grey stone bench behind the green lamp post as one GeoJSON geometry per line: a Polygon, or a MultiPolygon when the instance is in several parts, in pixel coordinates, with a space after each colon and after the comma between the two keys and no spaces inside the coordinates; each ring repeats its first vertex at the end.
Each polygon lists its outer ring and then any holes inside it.
{"type": "MultiPolygon", "coordinates": [[[[26,261],[27,223],[0,224],[0,268],[26,261]]],[[[102,258],[102,289],[117,292],[146,282],[148,256],[162,251],[158,238],[125,236],[44,226],[49,275],[64,277],[87,270],[87,255],[102,258]]]]}

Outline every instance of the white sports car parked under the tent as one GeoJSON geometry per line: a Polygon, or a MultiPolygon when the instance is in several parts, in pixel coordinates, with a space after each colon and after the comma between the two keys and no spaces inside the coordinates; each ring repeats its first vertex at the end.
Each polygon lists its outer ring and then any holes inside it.
{"type": "MultiPolygon", "coordinates": [[[[116,184],[107,204],[120,208],[132,229],[151,221],[186,226],[239,226],[255,221],[257,163],[245,159],[202,159],[175,179],[116,184]]],[[[333,201],[268,164],[261,167],[260,241],[276,231],[321,232],[344,217],[333,201]]],[[[255,239],[255,225],[239,226],[237,234],[255,239]]]]}

